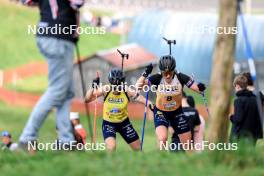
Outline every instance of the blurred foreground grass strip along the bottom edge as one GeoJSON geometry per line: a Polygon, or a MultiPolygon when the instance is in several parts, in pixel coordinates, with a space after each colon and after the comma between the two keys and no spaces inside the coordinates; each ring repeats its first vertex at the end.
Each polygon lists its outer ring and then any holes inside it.
{"type": "MultiPolygon", "coordinates": [[[[264,154],[259,153],[259,154],[264,154]]],[[[202,175],[260,176],[263,158],[255,152],[204,153],[186,156],[162,152],[63,153],[43,152],[35,156],[3,154],[1,174],[15,175],[202,175]],[[245,158],[244,158],[245,157],[245,158]],[[12,165],[11,165],[12,163],[12,165]],[[19,171],[19,172],[18,172],[19,171]],[[43,172],[44,171],[44,172],[43,172]],[[19,173],[19,174],[18,174],[19,173]]]]}

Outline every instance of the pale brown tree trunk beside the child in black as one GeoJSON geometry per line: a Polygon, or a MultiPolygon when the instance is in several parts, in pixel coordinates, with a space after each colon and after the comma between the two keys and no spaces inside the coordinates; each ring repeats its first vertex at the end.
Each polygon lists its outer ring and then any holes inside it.
{"type": "Polygon", "coordinates": [[[236,34],[230,34],[228,30],[236,27],[236,21],[237,0],[220,0],[218,27],[225,27],[227,33],[217,35],[213,56],[210,81],[211,119],[209,119],[208,129],[210,142],[226,142],[228,139],[229,107],[236,41],[236,34]]]}

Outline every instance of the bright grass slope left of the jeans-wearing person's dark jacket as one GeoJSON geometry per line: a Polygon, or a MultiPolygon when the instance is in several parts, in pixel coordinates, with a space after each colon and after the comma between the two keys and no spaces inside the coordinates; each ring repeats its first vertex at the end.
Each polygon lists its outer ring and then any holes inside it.
{"type": "Polygon", "coordinates": [[[27,26],[37,23],[37,9],[1,0],[0,19],[0,69],[41,59],[34,36],[27,34],[27,26]]]}

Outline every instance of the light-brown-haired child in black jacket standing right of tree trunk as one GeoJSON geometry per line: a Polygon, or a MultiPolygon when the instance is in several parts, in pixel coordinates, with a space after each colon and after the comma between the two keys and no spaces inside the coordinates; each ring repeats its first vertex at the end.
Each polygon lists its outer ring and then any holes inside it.
{"type": "Polygon", "coordinates": [[[258,139],[263,138],[263,129],[257,107],[256,95],[247,89],[248,80],[243,75],[234,79],[237,98],[234,101],[234,114],[232,122],[231,140],[240,142],[249,140],[256,145],[258,139]]]}

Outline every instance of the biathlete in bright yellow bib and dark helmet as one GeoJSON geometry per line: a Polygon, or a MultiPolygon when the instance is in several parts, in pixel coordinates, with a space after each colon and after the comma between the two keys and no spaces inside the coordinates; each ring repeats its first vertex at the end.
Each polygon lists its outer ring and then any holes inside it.
{"type": "MultiPolygon", "coordinates": [[[[128,103],[134,100],[144,104],[146,99],[136,90],[124,86],[125,75],[121,69],[112,69],[108,80],[110,85],[91,89],[86,94],[87,102],[95,100],[96,96],[104,96],[102,132],[106,148],[109,151],[115,150],[118,132],[133,150],[139,150],[139,136],[128,118],[128,103]]],[[[99,79],[95,79],[93,85],[98,84],[99,79]]]]}

